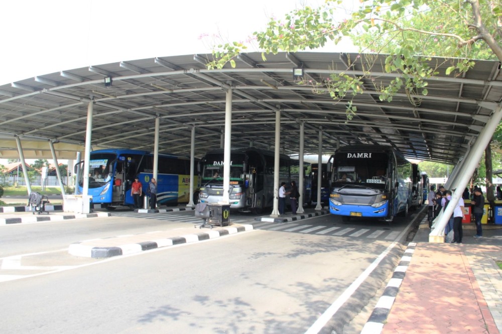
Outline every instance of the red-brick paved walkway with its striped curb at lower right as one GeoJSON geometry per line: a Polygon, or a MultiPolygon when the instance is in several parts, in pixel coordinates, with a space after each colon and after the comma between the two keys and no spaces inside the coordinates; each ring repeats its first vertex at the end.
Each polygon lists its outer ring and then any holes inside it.
{"type": "Polygon", "coordinates": [[[502,330],[502,226],[464,225],[463,244],[429,243],[424,219],[361,333],[502,330]]]}

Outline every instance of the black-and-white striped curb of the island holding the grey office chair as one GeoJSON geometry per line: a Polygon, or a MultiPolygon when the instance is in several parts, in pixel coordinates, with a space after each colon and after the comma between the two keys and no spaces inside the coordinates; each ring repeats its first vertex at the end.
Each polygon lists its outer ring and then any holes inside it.
{"type": "MultiPolygon", "coordinates": [[[[84,242],[89,243],[89,241],[92,241],[92,240],[87,240],[71,244],[70,247],[68,248],[68,253],[70,255],[80,256],[80,257],[91,257],[91,258],[112,257],[118,255],[138,253],[155,248],[214,239],[224,235],[230,235],[250,230],[253,230],[253,225],[245,224],[237,227],[226,227],[221,230],[210,230],[207,232],[201,232],[197,234],[187,234],[179,237],[157,239],[152,241],[130,243],[111,247],[95,247],[90,245],[82,245],[82,243],[84,242]]],[[[102,241],[104,239],[98,239],[98,240],[102,241]]]]}

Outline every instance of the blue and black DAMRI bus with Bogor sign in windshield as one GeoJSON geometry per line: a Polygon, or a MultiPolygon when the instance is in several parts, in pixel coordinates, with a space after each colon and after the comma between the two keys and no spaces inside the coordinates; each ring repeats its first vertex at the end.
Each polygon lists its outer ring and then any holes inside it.
{"type": "Polygon", "coordinates": [[[390,146],[349,145],[336,150],[329,211],[392,221],[411,205],[412,164],[390,146]]]}

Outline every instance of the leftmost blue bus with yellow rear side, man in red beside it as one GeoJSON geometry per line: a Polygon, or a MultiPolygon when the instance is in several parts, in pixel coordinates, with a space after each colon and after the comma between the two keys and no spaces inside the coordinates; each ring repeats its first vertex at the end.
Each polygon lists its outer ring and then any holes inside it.
{"type": "MultiPolygon", "coordinates": [[[[90,153],[88,163],[89,196],[92,196],[92,203],[100,203],[110,210],[119,206],[133,207],[131,184],[135,177],[138,177],[142,183],[144,194],[153,177],[154,155],[148,151],[121,148],[100,149],[90,153]]],[[[81,170],[83,171],[83,168],[81,170]]],[[[194,203],[196,203],[198,178],[196,176],[194,178],[194,203]]],[[[82,185],[83,173],[77,185],[79,194],[82,194],[82,185]]],[[[190,159],[159,154],[157,191],[159,205],[188,203],[190,159]]]]}

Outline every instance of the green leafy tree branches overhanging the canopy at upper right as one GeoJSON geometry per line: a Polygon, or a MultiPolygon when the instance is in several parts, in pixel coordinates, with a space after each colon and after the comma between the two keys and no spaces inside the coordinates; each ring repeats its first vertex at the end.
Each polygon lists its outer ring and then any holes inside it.
{"type": "MultiPolygon", "coordinates": [[[[264,59],[268,53],[316,49],[328,41],[336,44],[343,37],[352,37],[362,46],[361,51],[388,53],[385,71],[401,74],[389,84],[372,77],[369,70],[359,77],[332,74],[312,84],[333,99],[348,100],[349,120],[357,111],[351,101],[354,95],[363,92],[363,78],[374,82],[381,100],[392,101],[400,90],[427,95],[427,80],[438,71],[428,65],[431,54],[424,54],[424,50],[434,50],[432,55],[446,57],[450,65],[447,75],[461,75],[469,70],[474,65],[470,60],[473,58],[502,61],[500,0],[361,0],[360,3],[355,11],[343,17],[340,15],[343,1],[326,0],[319,8],[304,7],[286,14],[282,20],[273,18],[264,31],[253,34],[264,59]],[[367,34],[357,37],[364,32],[367,34]]],[[[235,67],[234,58],[247,48],[243,42],[215,46],[214,60],[207,67],[222,68],[226,63],[235,67]]],[[[357,61],[367,62],[364,68],[371,66],[370,59],[360,57],[357,61]]],[[[416,103],[415,99],[410,101],[416,103]]]]}

